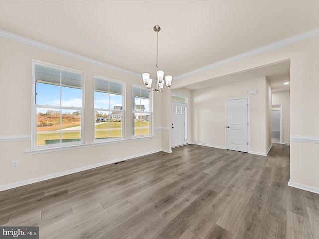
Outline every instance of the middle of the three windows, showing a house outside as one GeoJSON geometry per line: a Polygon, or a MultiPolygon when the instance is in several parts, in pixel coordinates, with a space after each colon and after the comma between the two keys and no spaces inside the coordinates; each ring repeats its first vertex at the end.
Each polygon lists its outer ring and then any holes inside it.
{"type": "Polygon", "coordinates": [[[95,140],[123,138],[122,82],[94,77],[95,140]]]}

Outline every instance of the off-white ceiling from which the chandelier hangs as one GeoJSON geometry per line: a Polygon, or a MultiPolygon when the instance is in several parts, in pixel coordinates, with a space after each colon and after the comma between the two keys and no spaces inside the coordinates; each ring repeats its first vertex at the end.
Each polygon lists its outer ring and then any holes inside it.
{"type": "MultiPolygon", "coordinates": [[[[160,25],[159,68],[174,77],[317,28],[318,12],[318,0],[1,0],[0,29],[155,78],[160,25]]],[[[287,64],[250,74],[281,88],[287,64]]]]}

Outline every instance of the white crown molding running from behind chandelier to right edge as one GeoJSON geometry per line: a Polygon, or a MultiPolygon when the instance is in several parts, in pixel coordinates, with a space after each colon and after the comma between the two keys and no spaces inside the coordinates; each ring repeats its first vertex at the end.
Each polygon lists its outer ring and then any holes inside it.
{"type": "Polygon", "coordinates": [[[195,69],[193,71],[189,71],[189,72],[186,72],[184,74],[175,76],[174,80],[178,80],[178,79],[181,79],[181,78],[184,78],[187,76],[195,75],[195,74],[201,73],[203,71],[207,71],[207,70],[210,70],[210,69],[222,66],[222,65],[229,64],[231,62],[235,62],[235,61],[238,61],[238,60],[250,57],[250,56],[254,56],[254,55],[266,52],[266,51],[270,51],[270,50],[273,50],[273,49],[276,49],[276,48],[279,48],[282,46],[286,46],[286,45],[289,45],[289,44],[292,44],[292,43],[295,43],[298,41],[302,41],[302,40],[308,39],[308,38],[313,37],[313,36],[318,36],[318,35],[319,35],[319,27],[312,29],[310,31],[300,33],[300,34],[292,36],[292,37],[288,37],[288,38],[280,40],[280,41],[276,41],[276,42],[271,43],[269,45],[259,47],[259,48],[254,49],[254,50],[244,52],[242,54],[227,58],[225,60],[218,61],[218,62],[210,64],[208,66],[204,66],[204,67],[195,69]]]}

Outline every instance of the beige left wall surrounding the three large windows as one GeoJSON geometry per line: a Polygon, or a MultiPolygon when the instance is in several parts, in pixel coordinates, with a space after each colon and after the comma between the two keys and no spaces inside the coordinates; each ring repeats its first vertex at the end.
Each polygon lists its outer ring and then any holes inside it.
{"type": "Polygon", "coordinates": [[[159,128],[154,131],[155,137],[131,140],[131,87],[132,84],[142,85],[141,78],[5,38],[0,38],[0,46],[0,138],[16,135],[31,136],[31,70],[34,59],[84,72],[84,142],[88,144],[87,147],[79,149],[26,155],[25,152],[31,150],[31,140],[0,142],[0,187],[39,177],[45,179],[48,175],[162,150],[162,96],[158,92],[154,93],[153,100],[153,127],[159,128]],[[126,82],[125,132],[128,139],[126,142],[91,146],[94,142],[94,74],[126,82]],[[18,168],[11,168],[12,160],[19,160],[18,168]]]}

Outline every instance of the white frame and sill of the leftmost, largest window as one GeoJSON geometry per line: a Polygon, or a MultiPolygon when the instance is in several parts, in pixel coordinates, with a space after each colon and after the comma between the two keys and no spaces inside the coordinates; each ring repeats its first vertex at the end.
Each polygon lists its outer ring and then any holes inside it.
{"type": "MultiPolygon", "coordinates": [[[[60,86],[61,86],[61,77],[60,74],[60,86]]],[[[46,62],[36,61],[32,60],[32,135],[31,135],[31,141],[32,141],[32,150],[30,152],[27,152],[27,154],[32,154],[32,151],[36,153],[36,151],[43,151],[43,152],[50,152],[55,150],[50,149],[65,149],[69,147],[82,147],[86,146],[84,144],[84,72],[70,69],[67,67],[62,67],[46,62]],[[46,66],[50,68],[54,68],[60,71],[68,71],[73,72],[76,74],[82,74],[82,107],[65,107],[65,106],[51,106],[51,105],[39,105],[36,104],[36,89],[35,89],[35,65],[40,66],[46,66]],[[74,142],[66,142],[66,143],[56,143],[56,144],[47,144],[47,145],[40,145],[37,146],[37,108],[50,108],[50,109],[59,109],[59,110],[80,110],[81,111],[81,140],[80,141],[74,141],[74,142]]],[[[60,95],[61,98],[61,95],[60,95]]],[[[62,114],[61,114],[62,117],[62,114]]],[[[61,123],[62,127],[62,123],[61,123]]],[[[61,129],[60,129],[61,130],[61,129]]]]}

